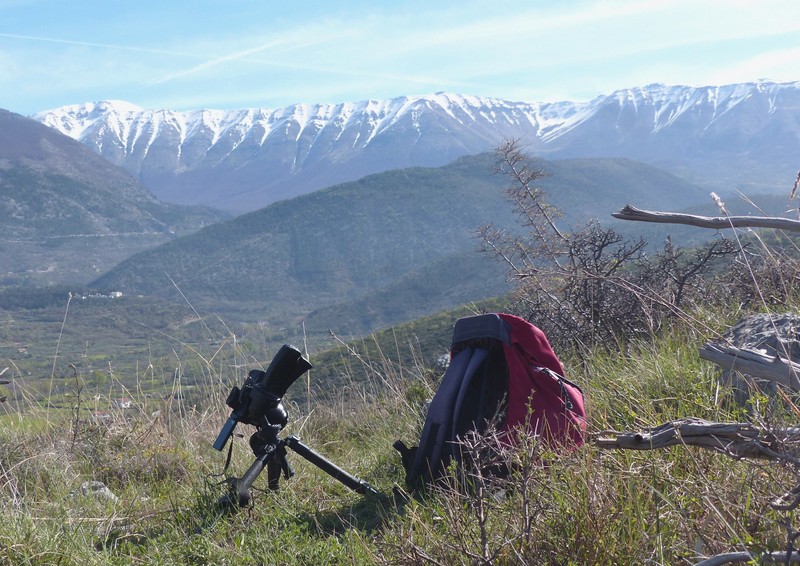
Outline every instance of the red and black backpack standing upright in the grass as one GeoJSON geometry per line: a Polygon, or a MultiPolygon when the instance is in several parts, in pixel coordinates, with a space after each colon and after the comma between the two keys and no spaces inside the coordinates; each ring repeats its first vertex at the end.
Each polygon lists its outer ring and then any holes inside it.
{"type": "Polygon", "coordinates": [[[428,409],[419,446],[398,440],[406,483],[417,487],[439,477],[455,459],[458,439],[500,422],[508,444],[520,432],[551,448],[583,444],[586,411],[581,389],[566,377],[547,337],[513,315],[498,313],[456,321],[450,365],[428,409]]]}

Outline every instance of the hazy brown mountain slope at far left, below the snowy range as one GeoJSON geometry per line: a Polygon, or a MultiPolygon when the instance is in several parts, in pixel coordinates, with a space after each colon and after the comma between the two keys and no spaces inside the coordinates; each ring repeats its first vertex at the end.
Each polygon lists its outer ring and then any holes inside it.
{"type": "Polygon", "coordinates": [[[0,110],[0,285],[88,282],[218,212],[158,202],[125,170],[0,110]]]}

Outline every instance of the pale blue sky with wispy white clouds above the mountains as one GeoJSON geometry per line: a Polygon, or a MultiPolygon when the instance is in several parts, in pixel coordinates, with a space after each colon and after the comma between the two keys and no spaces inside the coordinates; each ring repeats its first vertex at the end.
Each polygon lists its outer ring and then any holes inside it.
{"type": "Polygon", "coordinates": [[[587,101],[800,81],[800,0],[0,0],[0,108],[587,101]]]}

